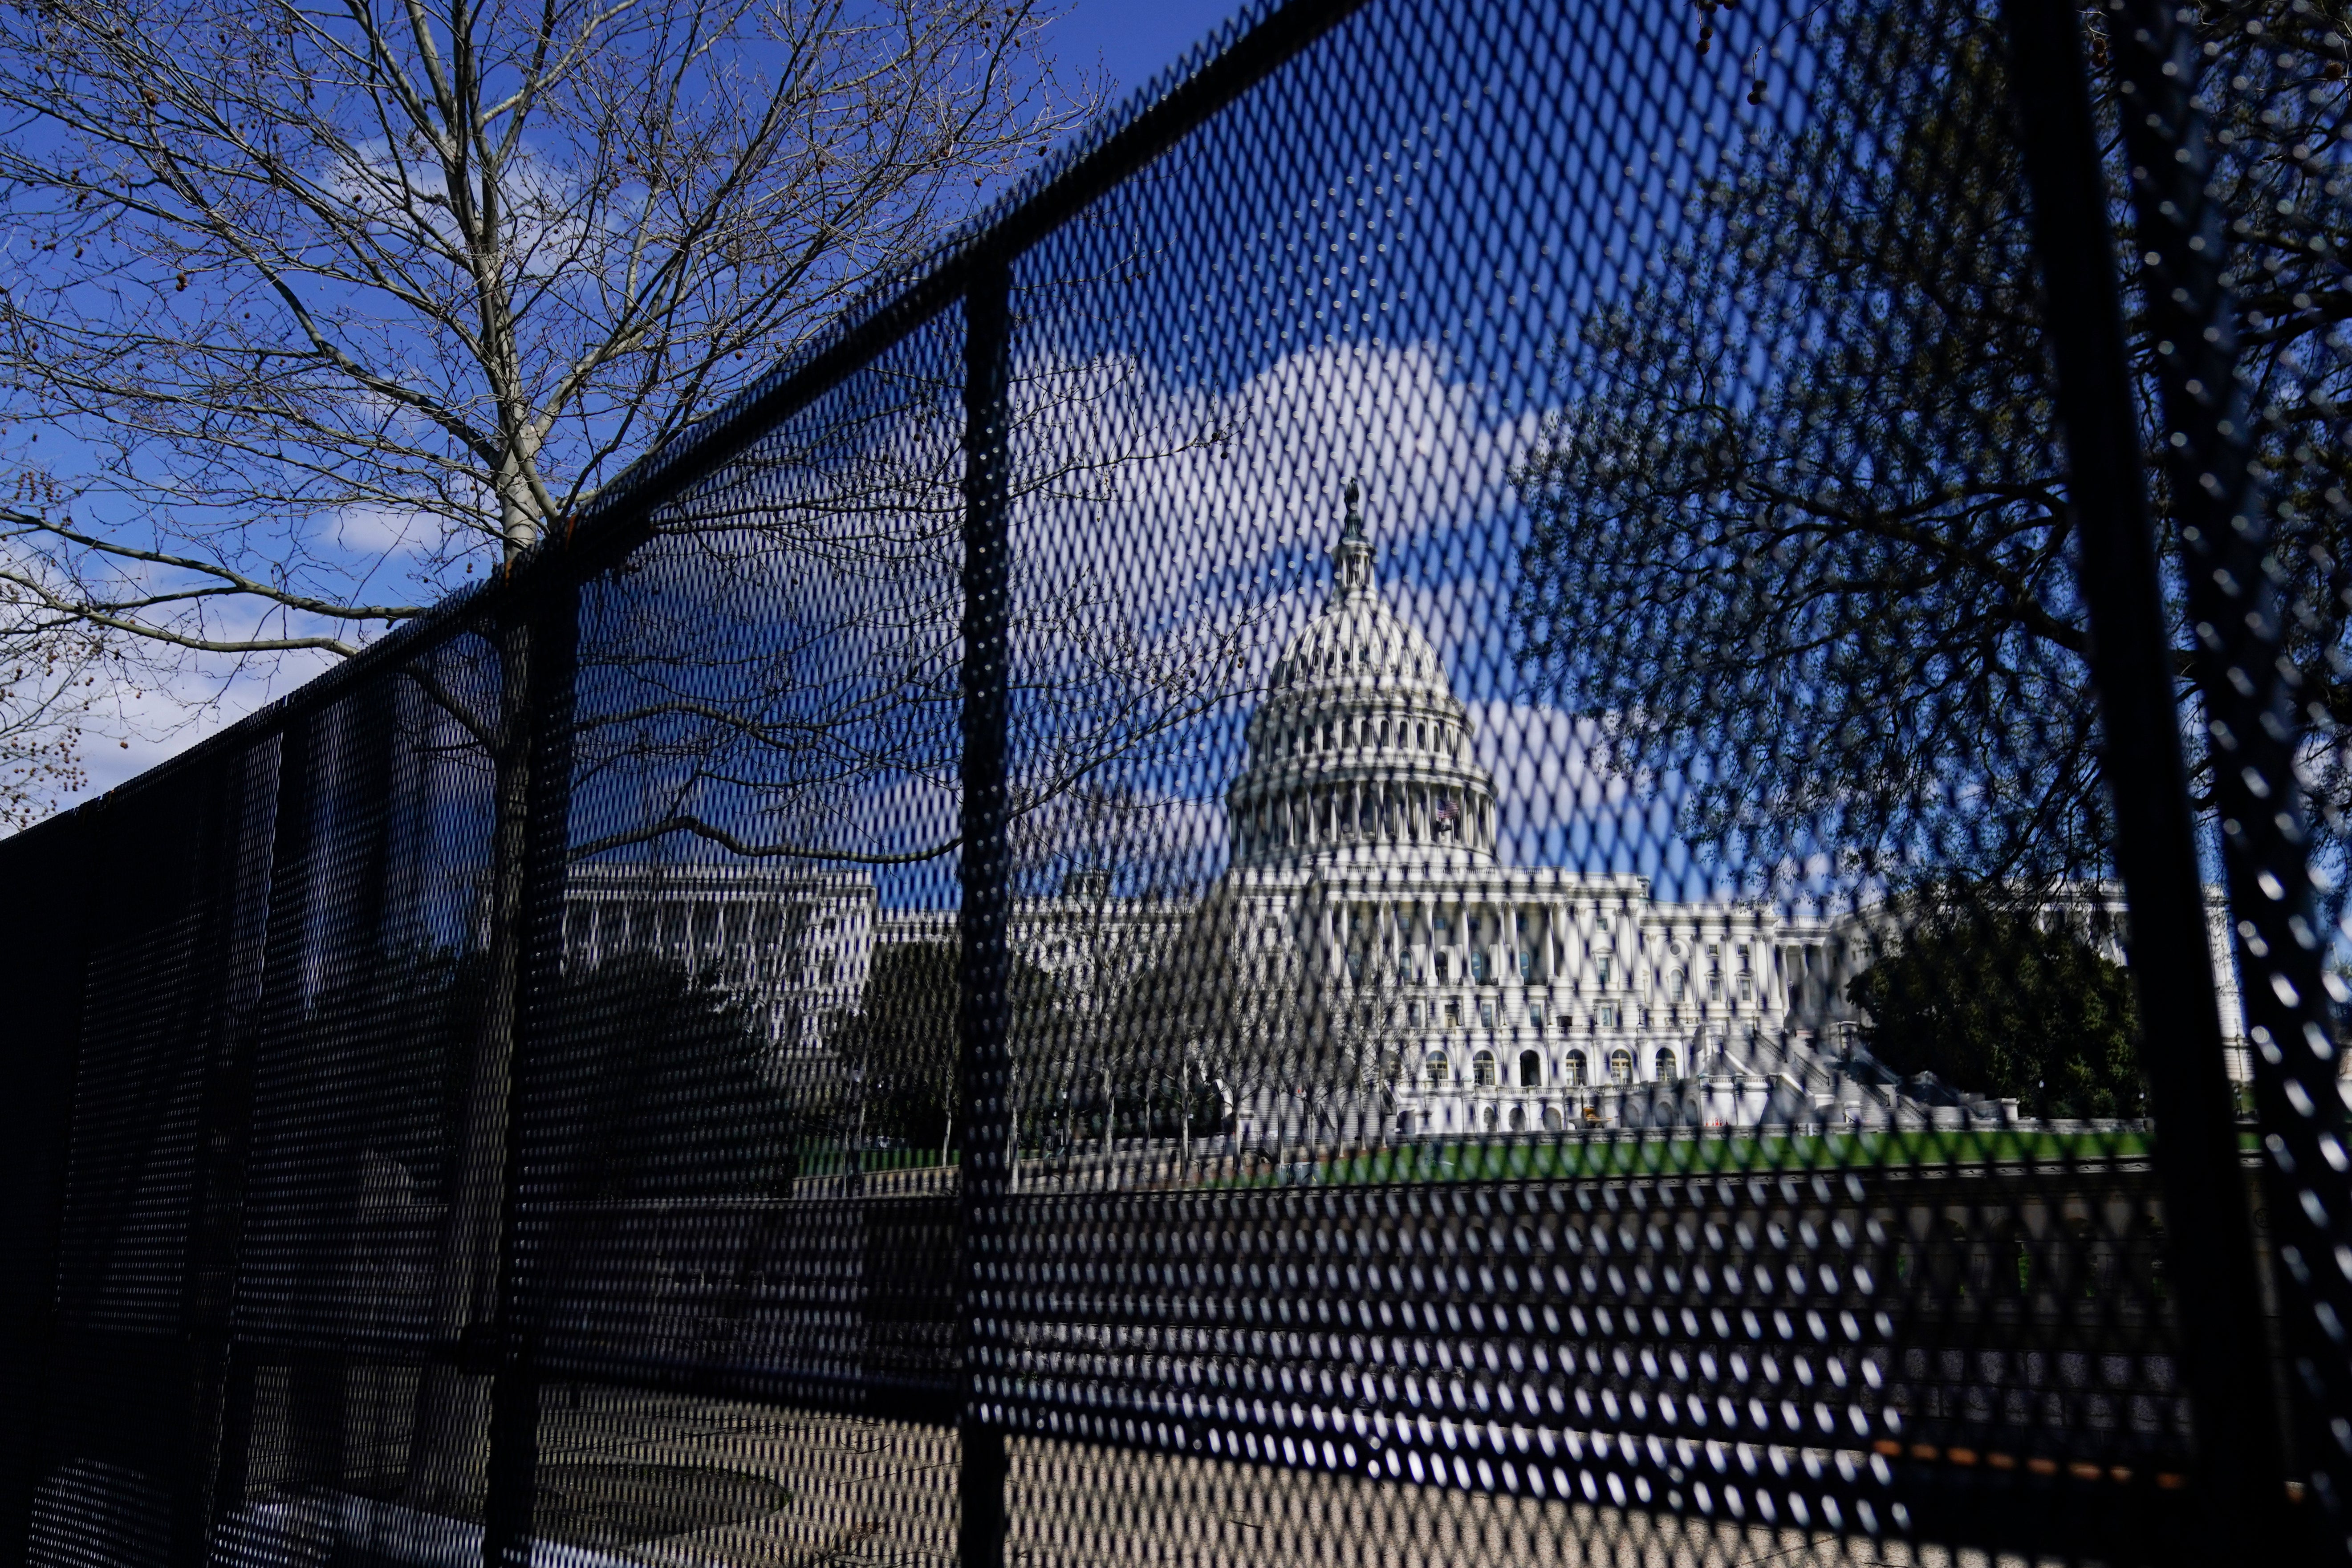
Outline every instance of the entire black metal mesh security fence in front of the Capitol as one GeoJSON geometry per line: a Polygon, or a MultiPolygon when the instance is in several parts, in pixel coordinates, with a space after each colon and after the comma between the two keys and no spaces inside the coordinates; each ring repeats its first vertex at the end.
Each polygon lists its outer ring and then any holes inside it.
{"type": "Polygon", "coordinates": [[[2345,1556],[2347,33],[1235,28],[0,849],[0,1535],[2345,1556]]]}

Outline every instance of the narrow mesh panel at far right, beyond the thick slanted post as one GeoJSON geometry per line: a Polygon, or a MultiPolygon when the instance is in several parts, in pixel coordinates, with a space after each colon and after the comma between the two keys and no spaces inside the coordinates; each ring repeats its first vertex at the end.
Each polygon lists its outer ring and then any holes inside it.
{"type": "Polygon", "coordinates": [[[2093,56],[2145,82],[2114,113],[2145,263],[2124,329],[2150,367],[2154,512],[2192,649],[2190,778],[2213,802],[2249,997],[2263,1218],[2286,1265],[2286,1448],[2331,1554],[2352,1549],[2347,31],[2343,7],[2312,5],[2110,12],[2091,28],[2093,56]]]}

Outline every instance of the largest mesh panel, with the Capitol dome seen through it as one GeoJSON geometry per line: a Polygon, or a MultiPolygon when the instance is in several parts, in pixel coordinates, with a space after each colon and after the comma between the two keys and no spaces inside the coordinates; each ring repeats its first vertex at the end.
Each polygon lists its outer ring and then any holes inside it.
{"type": "Polygon", "coordinates": [[[1364,7],[1016,263],[1011,1427],[2183,1483],[2006,42],[1719,21],[1364,7]]]}

